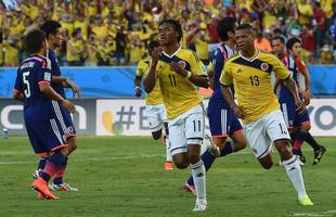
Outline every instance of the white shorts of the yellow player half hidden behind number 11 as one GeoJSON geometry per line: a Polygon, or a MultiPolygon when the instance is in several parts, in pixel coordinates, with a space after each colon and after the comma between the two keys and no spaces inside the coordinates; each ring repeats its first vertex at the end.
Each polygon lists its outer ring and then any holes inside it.
{"type": "Polygon", "coordinates": [[[165,104],[146,105],[144,115],[150,123],[150,129],[152,132],[163,129],[164,123],[168,122],[165,104]]]}

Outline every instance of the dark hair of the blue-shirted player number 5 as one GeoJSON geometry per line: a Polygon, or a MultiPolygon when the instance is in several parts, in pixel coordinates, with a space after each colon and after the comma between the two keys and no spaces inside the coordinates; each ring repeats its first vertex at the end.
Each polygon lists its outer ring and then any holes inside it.
{"type": "Polygon", "coordinates": [[[44,31],[40,29],[33,29],[24,38],[24,48],[28,54],[38,53],[41,50],[44,41],[44,31]]]}

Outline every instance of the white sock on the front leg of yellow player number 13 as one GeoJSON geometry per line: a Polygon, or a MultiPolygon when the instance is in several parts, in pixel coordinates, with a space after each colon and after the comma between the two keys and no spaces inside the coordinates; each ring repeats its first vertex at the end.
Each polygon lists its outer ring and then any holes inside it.
{"type": "Polygon", "coordinates": [[[293,156],[292,158],[284,161],[283,164],[286,168],[287,176],[289,177],[292,184],[298,193],[298,197],[300,199],[305,196],[307,193],[299,162],[296,161],[295,156],[293,156]]]}

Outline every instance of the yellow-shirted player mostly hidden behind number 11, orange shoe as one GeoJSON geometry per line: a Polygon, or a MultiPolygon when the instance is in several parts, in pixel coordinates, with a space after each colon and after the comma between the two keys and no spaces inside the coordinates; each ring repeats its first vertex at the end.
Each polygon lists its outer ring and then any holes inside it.
{"type": "MultiPolygon", "coordinates": [[[[148,43],[148,54],[152,55],[152,51],[154,48],[159,47],[158,41],[151,41],[148,43]]],[[[143,60],[141,60],[138,63],[138,68],[137,68],[137,76],[134,79],[134,85],[135,85],[135,97],[140,98],[141,97],[141,79],[143,76],[146,76],[148,73],[151,64],[151,58],[147,56],[143,60]]],[[[152,90],[151,93],[146,94],[145,97],[145,116],[150,123],[150,128],[152,131],[153,139],[158,140],[163,138],[163,141],[166,143],[166,164],[165,168],[166,170],[172,170],[172,165],[171,165],[171,154],[169,152],[169,140],[168,140],[168,120],[167,120],[167,112],[166,107],[164,104],[164,100],[160,93],[159,89],[159,82],[157,81],[154,89],[152,90]],[[165,132],[163,133],[163,130],[165,128],[165,132]]]]}

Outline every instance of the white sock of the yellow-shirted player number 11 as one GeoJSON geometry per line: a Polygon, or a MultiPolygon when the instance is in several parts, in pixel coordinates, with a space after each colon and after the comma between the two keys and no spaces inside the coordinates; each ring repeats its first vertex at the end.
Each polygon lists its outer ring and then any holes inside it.
{"type": "Polygon", "coordinates": [[[190,167],[192,169],[197,200],[206,201],[206,171],[203,161],[201,159],[196,164],[191,164],[190,167]]]}

